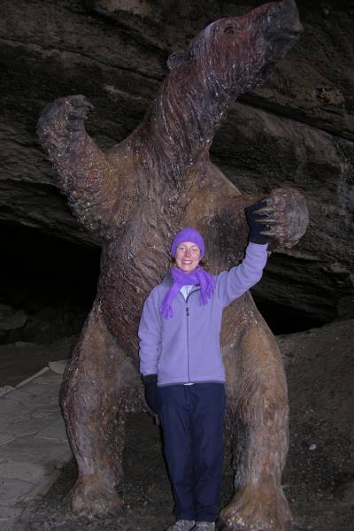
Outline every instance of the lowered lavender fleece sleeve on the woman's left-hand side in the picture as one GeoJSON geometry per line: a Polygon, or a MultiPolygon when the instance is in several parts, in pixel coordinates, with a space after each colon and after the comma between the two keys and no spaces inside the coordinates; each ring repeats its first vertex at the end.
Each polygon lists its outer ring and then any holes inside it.
{"type": "Polygon", "coordinates": [[[158,297],[154,296],[153,292],[143,305],[138,336],[142,376],[158,373],[158,359],[161,352],[161,315],[158,311],[158,297]]]}

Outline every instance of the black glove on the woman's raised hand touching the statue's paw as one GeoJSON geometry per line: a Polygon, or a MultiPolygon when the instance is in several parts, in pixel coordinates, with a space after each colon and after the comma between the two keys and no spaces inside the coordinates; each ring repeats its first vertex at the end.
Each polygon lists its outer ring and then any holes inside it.
{"type": "Polygon", "coordinates": [[[273,208],[268,206],[266,199],[263,198],[244,210],[246,212],[247,223],[250,227],[250,242],[261,244],[270,242],[270,226],[274,223],[274,219],[271,217],[273,208]]]}

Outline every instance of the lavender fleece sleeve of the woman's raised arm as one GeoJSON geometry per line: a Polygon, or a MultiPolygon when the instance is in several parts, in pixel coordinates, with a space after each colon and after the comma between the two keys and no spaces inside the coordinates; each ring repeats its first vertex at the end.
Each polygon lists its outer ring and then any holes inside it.
{"type": "Polygon", "coordinates": [[[266,266],[267,247],[267,243],[261,245],[250,242],[241,264],[218,275],[216,291],[222,306],[231,304],[260,281],[266,266]]]}

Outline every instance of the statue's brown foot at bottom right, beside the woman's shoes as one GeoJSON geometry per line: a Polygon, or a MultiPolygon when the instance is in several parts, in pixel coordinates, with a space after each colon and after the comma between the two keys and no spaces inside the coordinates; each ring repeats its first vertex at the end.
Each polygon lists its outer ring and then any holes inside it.
{"type": "Polygon", "coordinates": [[[272,483],[240,489],[219,515],[222,531],[289,531],[290,519],[287,500],[272,483]]]}

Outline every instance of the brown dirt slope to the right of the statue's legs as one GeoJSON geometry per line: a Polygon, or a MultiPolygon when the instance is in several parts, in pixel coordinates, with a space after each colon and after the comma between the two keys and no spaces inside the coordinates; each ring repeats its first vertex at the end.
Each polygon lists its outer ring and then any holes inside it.
{"type": "Polygon", "coordinates": [[[354,320],[279,336],[289,382],[284,474],[297,529],[349,531],[352,506],[354,320]]]}

